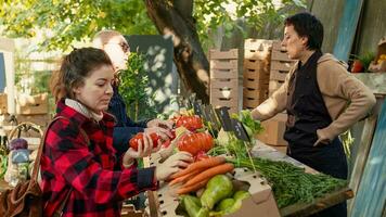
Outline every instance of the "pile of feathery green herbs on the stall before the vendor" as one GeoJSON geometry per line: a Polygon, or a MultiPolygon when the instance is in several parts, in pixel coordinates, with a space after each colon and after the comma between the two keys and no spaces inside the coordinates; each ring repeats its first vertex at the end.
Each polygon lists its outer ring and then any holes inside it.
{"type": "Polygon", "coordinates": [[[265,176],[272,186],[279,208],[298,203],[312,202],[317,197],[347,186],[346,180],[336,179],[324,174],[307,174],[304,168],[287,162],[274,162],[263,158],[229,159],[236,167],[254,167],[265,176]]]}

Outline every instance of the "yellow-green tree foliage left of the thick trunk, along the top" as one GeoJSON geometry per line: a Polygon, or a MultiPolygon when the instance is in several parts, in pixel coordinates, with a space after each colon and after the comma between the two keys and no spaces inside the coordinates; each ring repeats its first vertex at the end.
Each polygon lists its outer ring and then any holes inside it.
{"type": "Polygon", "coordinates": [[[125,0],[13,0],[1,3],[0,25],[9,37],[34,37],[47,33],[39,50],[67,50],[101,29],[123,34],[155,34],[142,1],[125,0]]]}

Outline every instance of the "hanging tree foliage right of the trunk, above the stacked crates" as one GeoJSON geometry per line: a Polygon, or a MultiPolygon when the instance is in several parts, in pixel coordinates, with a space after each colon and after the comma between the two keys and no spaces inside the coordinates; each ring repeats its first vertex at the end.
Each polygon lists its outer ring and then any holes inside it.
{"type": "Polygon", "coordinates": [[[271,0],[195,0],[193,15],[201,41],[208,47],[211,43],[208,29],[210,33],[223,26],[226,37],[231,37],[235,30],[244,37],[249,31],[282,33],[284,18],[305,8],[305,0],[282,0],[281,4],[271,0]],[[233,13],[229,12],[231,8],[233,13]]]}

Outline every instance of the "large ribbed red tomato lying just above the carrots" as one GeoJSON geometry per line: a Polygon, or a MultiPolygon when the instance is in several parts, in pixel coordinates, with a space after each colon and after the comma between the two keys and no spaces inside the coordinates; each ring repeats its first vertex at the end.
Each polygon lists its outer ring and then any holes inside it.
{"type": "Polygon", "coordinates": [[[180,151],[197,155],[200,151],[207,152],[214,146],[214,139],[209,133],[197,132],[183,135],[177,143],[180,151]]]}

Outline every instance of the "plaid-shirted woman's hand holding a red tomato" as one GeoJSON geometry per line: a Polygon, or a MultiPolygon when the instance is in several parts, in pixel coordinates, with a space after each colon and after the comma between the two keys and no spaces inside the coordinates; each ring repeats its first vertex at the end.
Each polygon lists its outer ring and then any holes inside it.
{"type": "MultiPolygon", "coordinates": [[[[160,141],[158,140],[158,146],[160,146],[159,144],[160,141]]],[[[159,150],[159,148],[157,148],[155,151],[157,150],[159,150]]],[[[144,132],[143,143],[141,140],[138,141],[138,151],[136,151],[132,148],[129,148],[129,150],[127,150],[124,155],[123,164],[125,167],[131,166],[136,158],[142,158],[149,156],[152,153],[152,151],[153,151],[152,138],[150,137],[149,133],[144,132]]]]}

